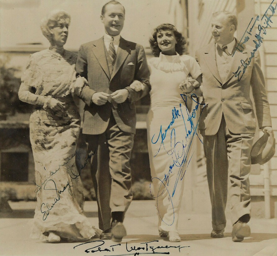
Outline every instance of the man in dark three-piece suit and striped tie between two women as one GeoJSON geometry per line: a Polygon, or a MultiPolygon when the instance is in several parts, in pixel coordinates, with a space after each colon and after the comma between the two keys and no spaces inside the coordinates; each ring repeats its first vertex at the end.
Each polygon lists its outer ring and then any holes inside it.
{"type": "Polygon", "coordinates": [[[88,152],[94,153],[91,174],[103,230],[100,239],[117,242],[126,235],[122,222],[132,201],[129,160],[136,132],[135,102],[150,86],[143,47],[120,36],[124,17],[119,2],[106,3],[101,15],[104,36],[81,45],[76,62],[77,76],[88,80],[80,98],[85,102],[83,134],[88,152]],[[134,81],[142,83],[143,90],[132,90],[134,81]]]}

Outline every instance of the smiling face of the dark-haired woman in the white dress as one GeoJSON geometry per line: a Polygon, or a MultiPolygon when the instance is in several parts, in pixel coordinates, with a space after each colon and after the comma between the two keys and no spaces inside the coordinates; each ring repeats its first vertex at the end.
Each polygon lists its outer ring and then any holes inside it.
{"type": "Polygon", "coordinates": [[[157,43],[165,55],[175,55],[176,38],[171,30],[160,30],[157,33],[157,43]]]}

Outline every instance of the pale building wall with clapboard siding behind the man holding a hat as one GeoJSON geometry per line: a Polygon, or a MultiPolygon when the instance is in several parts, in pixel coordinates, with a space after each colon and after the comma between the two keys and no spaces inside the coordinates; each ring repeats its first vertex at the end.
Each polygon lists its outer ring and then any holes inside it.
{"type": "MultiPolygon", "coordinates": [[[[188,1],[188,30],[189,33],[189,45],[188,50],[190,55],[194,55],[195,51],[202,46],[208,44],[211,37],[211,18],[212,13],[220,10],[227,10],[234,12],[238,16],[238,30],[235,33],[236,38],[240,39],[251,18],[256,18],[257,15],[260,18],[263,16],[267,8],[269,7],[271,0],[189,0],[188,1]]],[[[274,6],[276,1],[274,3],[274,6]]],[[[271,11],[269,11],[271,13],[271,11]]],[[[267,34],[264,35],[263,43],[259,49],[261,55],[262,69],[265,76],[265,85],[268,92],[268,101],[270,103],[270,111],[272,116],[272,126],[275,132],[275,138],[277,136],[277,16],[271,18],[273,23],[270,23],[272,28],[268,28],[267,34]]],[[[257,31],[256,23],[255,30],[257,31]]],[[[263,25],[263,24],[262,24],[263,25]]],[[[255,32],[256,33],[256,32],[255,32]]],[[[254,33],[254,35],[255,35],[254,33]]],[[[255,38],[252,38],[255,39],[255,38]]],[[[255,44],[249,40],[249,44],[255,44]]],[[[255,140],[261,136],[261,131],[257,129],[255,140]]],[[[193,198],[197,198],[193,208],[197,208],[196,204],[207,204],[206,209],[209,209],[209,196],[206,182],[206,170],[205,170],[205,158],[203,153],[203,145],[198,143],[197,147],[198,165],[196,175],[194,175],[195,189],[193,191],[193,198]],[[208,203],[207,203],[208,202],[208,203]]],[[[264,177],[265,171],[269,168],[270,173],[270,195],[277,196],[277,153],[275,156],[265,165],[260,166],[258,164],[252,165],[250,174],[251,194],[252,196],[264,196],[264,177]]],[[[276,203],[275,203],[276,204],[276,203]]],[[[204,207],[203,207],[204,208],[204,207]]],[[[271,216],[274,216],[274,206],[271,206],[271,216]],[[273,213],[272,213],[273,212],[273,213]]],[[[276,205],[275,205],[276,208],[276,205]]],[[[275,214],[276,216],[276,214],[275,214]]]]}

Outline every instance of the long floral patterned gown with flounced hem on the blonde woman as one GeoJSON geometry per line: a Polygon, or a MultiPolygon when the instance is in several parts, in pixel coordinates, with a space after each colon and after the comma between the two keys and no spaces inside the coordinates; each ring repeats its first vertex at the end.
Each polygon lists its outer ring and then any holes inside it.
{"type": "Polygon", "coordinates": [[[70,93],[75,62],[76,54],[50,47],[31,55],[21,78],[19,98],[34,105],[30,116],[37,197],[34,239],[47,240],[50,232],[68,242],[100,234],[83,214],[81,170],[75,164],[80,132],[80,115],[70,93]],[[49,109],[48,97],[63,102],[63,110],[49,109]]]}

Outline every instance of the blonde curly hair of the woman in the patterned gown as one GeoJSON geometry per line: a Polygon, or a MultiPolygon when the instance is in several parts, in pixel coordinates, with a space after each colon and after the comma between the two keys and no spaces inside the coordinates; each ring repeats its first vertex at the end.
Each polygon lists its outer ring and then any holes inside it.
{"type": "Polygon", "coordinates": [[[54,10],[53,12],[50,12],[48,17],[41,20],[40,29],[42,31],[42,34],[50,42],[52,39],[50,29],[52,29],[54,26],[57,26],[58,22],[65,22],[69,26],[70,21],[71,17],[69,13],[64,10],[54,10]]]}

